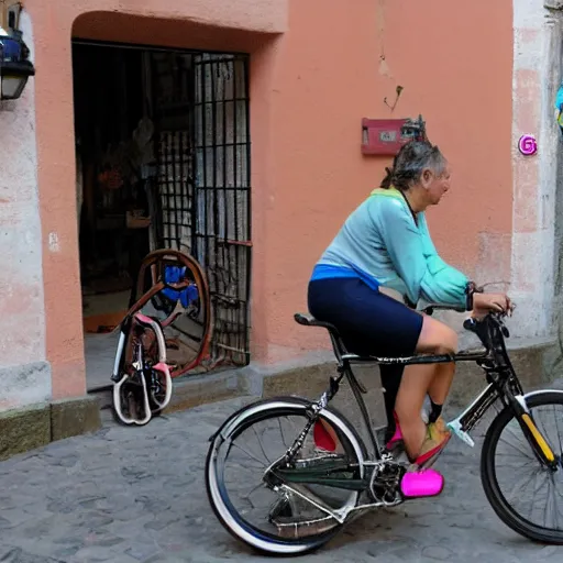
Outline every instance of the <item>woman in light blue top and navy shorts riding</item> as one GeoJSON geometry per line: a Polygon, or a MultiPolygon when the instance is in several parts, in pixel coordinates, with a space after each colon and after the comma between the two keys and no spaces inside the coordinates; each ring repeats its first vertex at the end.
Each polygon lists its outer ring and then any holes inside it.
{"type": "MultiPolygon", "coordinates": [[[[385,357],[454,354],[457,334],[417,312],[420,299],[474,314],[510,308],[506,295],[468,291],[470,279],[437,253],[424,210],[450,189],[450,174],[438,146],[428,141],[404,145],[380,188],[352,212],[317,263],[309,311],[334,324],[350,352],[385,357]],[[389,297],[386,288],[400,294],[404,302],[389,297]]],[[[454,368],[454,363],[409,365],[400,379],[397,430],[417,467],[435,459],[450,439],[441,411],[454,368]],[[428,424],[421,418],[427,395],[432,406],[428,424]]]]}

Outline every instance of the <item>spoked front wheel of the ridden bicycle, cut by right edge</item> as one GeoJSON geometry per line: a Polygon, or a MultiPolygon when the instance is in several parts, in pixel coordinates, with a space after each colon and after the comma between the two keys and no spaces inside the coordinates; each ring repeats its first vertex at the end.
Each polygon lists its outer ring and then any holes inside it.
{"type": "Polygon", "coordinates": [[[507,407],[493,421],[483,444],[483,487],[497,516],[517,533],[563,544],[563,391],[529,394],[526,402],[555,454],[556,467],[540,463],[507,407]]]}

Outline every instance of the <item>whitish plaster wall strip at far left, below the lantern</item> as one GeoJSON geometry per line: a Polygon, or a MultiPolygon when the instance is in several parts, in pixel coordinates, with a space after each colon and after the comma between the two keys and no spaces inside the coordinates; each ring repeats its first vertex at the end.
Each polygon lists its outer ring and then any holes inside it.
{"type": "MultiPolygon", "coordinates": [[[[33,60],[25,12],[20,26],[33,60]]],[[[0,409],[51,398],[33,86],[0,102],[0,409]]]]}

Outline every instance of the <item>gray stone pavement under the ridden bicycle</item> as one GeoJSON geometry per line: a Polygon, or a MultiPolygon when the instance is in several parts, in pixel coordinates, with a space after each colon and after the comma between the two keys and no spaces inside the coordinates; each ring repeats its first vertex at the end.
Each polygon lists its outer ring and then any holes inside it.
{"type": "MultiPolygon", "coordinates": [[[[107,422],[0,463],[0,562],[265,562],[232,539],[209,507],[209,435],[242,399],[153,420],[107,422]]],[[[532,544],[488,506],[478,449],[452,440],[439,462],[441,497],[373,512],[296,562],[555,561],[563,548],[532,544]]]]}

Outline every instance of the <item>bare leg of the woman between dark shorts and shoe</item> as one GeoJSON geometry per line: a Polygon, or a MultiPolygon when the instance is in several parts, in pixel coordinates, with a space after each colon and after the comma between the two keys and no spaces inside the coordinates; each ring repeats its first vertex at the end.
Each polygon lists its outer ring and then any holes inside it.
{"type": "MultiPolygon", "coordinates": [[[[422,331],[417,344],[418,353],[452,354],[457,347],[457,334],[448,325],[424,317],[422,331]]],[[[454,364],[409,365],[397,395],[397,417],[399,418],[407,454],[411,460],[418,457],[426,438],[426,424],[420,410],[426,395],[443,404],[453,379],[454,364]]]]}

